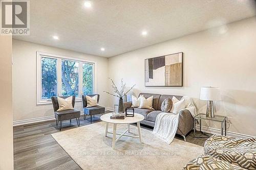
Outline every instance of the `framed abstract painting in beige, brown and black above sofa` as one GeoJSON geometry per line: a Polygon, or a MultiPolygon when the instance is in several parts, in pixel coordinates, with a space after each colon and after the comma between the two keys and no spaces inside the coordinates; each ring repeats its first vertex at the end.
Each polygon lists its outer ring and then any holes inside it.
{"type": "Polygon", "coordinates": [[[183,53],[145,59],[145,86],[182,86],[183,53]]]}

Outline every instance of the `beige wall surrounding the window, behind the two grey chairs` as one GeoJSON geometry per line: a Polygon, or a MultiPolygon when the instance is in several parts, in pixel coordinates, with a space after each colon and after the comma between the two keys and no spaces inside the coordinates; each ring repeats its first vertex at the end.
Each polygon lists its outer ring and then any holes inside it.
{"type": "MultiPolygon", "coordinates": [[[[96,61],[99,104],[108,105],[108,96],[103,93],[108,88],[108,58],[13,39],[14,121],[53,115],[52,105],[36,105],[36,51],[96,61]]],[[[82,110],[82,103],[76,102],[75,108],[82,110]]]]}

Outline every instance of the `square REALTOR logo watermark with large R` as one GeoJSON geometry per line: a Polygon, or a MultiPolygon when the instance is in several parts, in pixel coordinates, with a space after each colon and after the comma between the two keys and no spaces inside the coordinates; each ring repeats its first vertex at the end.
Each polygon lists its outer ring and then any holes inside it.
{"type": "Polygon", "coordinates": [[[29,1],[1,2],[1,35],[29,35],[30,11],[29,1]]]}

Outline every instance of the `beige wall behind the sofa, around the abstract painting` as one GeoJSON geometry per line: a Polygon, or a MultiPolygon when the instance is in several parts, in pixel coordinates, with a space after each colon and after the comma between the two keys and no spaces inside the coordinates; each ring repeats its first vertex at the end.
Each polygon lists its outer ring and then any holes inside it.
{"type": "MultiPolygon", "coordinates": [[[[123,78],[127,85],[136,84],[136,95],[142,91],[191,96],[202,113],[206,102],[199,100],[200,88],[218,86],[222,101],[215,102],[216,114],[232,117],[228,131],[256,136],[256,17],[233,22],[227,25],[225,34],[220,34],[223,29],[214,28],[111,57],[109,76],[116,82],[123,78]],[[145,87],[144,59],[178,52],[184,53],[184,86],[145,87]]],[[[111,99],[113,107],[117,99],[111,99]]],[[[220,128],[217,124],[210,127],[220,128]]]]}

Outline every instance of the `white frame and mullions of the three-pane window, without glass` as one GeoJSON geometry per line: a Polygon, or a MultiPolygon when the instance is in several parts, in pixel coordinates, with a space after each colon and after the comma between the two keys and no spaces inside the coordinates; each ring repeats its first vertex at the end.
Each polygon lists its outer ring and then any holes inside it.
{"type": "Polygon", "coordinates": [[[62,55],[55,55],[50,53],[44,53],[44,52],[36,52],[36,105],[47,105],[52,104],[51,99],[42,100],[42,83],[41,83],[41,58],[52,58],[57,59],[57,96],[59,94],[61,95],[61,61],[62,60],[69,60],[69,61],[75,61],[79,62],[79,71],[78,71],[78,79],[79,79],[79,85],[78,85],[78,97],[76,98],[76,102],[82,101],[81,95],[82,95],[82,76],[83,76],[83,69],[82,64],[88,63],[93,64],[93,93],[97,93],[97,62],[81,59],[81,58],[74,58],[74,57],[68,57],[68,56],[62,56],[62,55]]]}

